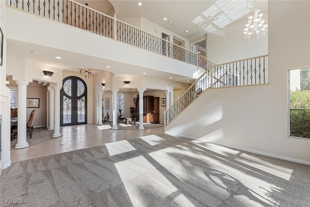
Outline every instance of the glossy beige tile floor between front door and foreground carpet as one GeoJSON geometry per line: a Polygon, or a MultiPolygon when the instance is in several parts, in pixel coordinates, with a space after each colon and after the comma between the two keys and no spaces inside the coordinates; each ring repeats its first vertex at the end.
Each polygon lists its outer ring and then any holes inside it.
{"type": "Polygon", "coordinates": [[[11,150],[11,162],[99,146],[120,140],[137,139],[140,136],[160,134],[164,131],[163,127],[148,130],[112,130],[101,129],[102,126],[87,124],[61,127],[62,137],[27,148],[11,150]]]}

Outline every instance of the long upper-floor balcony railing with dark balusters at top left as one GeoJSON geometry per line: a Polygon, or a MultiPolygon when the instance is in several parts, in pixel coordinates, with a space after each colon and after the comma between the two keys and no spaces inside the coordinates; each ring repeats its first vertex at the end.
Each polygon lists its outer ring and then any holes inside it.
{"type": "Polygon", "coordinates": [[[108,16],[73,0],[9,0],[8,4],[203,69],[210,66],[210,62],[198,53],[126,24],[115,15],[108,16]]]}

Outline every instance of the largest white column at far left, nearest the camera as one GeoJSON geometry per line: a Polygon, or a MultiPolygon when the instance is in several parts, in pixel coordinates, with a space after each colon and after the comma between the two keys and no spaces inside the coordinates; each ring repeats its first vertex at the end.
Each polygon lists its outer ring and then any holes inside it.
{"type": "Polygon", "coordinates": [[[17,85],[17,143],[16,149],[28,147],[29,144],[26,139],[26,123],[27,123],[27,85],[28,81],[16,80],[17,85]]]}

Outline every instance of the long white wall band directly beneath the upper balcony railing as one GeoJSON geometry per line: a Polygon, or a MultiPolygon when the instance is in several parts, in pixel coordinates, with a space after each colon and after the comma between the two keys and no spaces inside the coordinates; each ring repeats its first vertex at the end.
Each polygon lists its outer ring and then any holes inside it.
{"type": "MultiPolygon", "coordinates": [[[[71,67],[81,67],[87,64],[92,68],[107,70],[103,63],[110,60],[135,65],[137,68],[150,68],[187,77],[192,77],[197,71],[195,65],[185,64],[11,7],[6,8],[6,16],[7,39],[72,52],[77,59],[70,63],[71,67]],[[91,58],[81,59],[80,55],[91,58]],[[91,62],[88,62],[90,60],[91,62]]],[[[118,71],[124,72],[124,68],[111,68],[110,71],[117,75],[118,71]]]]}

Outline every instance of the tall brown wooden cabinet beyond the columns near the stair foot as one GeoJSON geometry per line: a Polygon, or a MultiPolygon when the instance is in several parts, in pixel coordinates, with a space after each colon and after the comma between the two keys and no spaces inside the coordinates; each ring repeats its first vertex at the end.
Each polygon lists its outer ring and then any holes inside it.
{"type": "MultiPolygon", "coordinates": [[[[136,103],[135,117],[139,121],[139,96],[134,100],[136,103]]],[[[159,123],[159,97],[143,96],[143,122],[159,123]]]]}

